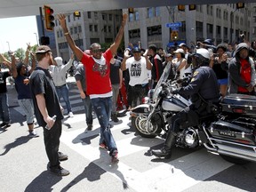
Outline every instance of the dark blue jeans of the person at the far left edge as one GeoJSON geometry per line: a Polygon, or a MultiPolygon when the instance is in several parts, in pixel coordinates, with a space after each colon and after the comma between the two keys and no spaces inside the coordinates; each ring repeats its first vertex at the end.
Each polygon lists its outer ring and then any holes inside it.
{"type": "Polygon", "coordinates": [[[0,118],[3,123],[10,123],[11,121],[7,92],[0,93],[0,118]]]}

